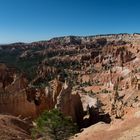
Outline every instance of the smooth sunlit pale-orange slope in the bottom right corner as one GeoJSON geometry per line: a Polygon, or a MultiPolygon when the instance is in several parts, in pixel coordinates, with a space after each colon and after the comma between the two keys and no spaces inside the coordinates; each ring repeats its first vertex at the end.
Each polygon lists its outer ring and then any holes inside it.
{"type": "Polygon", "coordinates": [[[124,120],[115,120],[111,124],[99,122],[82,133],[76,134],[71,140],[138,140],[140,138],[140,116],[139,111],[129,110],[124,120]]]}

